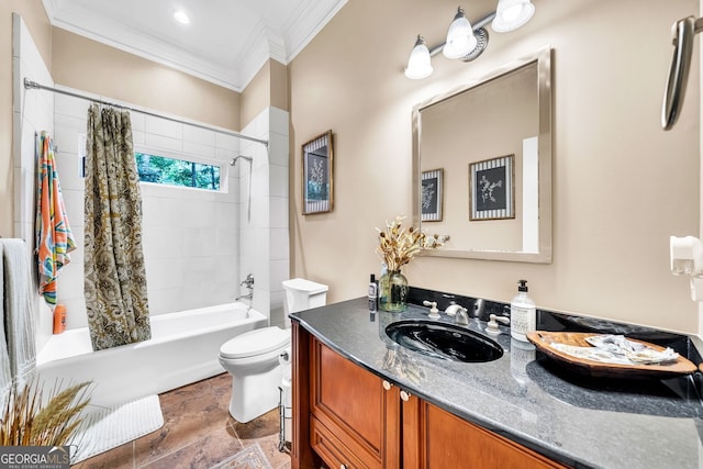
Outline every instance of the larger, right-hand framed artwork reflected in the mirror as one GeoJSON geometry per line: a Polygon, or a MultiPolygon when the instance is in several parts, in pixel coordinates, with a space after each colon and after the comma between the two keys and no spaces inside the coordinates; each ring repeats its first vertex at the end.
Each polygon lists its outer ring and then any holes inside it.
{"type": "Polygon", "coordinates": [[[469,164],[469,220],[515,217],[515,155],[469,164]]]}

